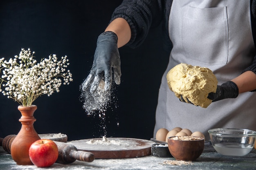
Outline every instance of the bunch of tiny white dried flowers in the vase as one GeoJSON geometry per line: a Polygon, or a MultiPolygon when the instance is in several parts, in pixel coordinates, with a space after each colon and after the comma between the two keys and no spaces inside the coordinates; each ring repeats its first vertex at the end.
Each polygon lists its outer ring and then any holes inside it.
{"type": "Polygon", "coordinates": [[[31,106],[40,95],[59,92],[62,81],[64,85],[73,81],[72,74],[65,69],[69,65],[67,56],[58,61],[56,54],[49,55],[37,63],[34,53],[22,48],[14,59],[0,59],[0,92],[23,106],[31,106]]]}

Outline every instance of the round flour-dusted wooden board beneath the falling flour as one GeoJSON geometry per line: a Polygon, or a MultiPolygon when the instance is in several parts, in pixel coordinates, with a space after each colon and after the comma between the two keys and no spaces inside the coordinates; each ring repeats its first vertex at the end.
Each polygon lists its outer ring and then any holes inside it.
{"type": "Polygon", "coordinates": [[[151,144],[154,142],[135,138],[102,138],[81,139],[70,141],[78,150],[92,152],[95,159],[136,158],[151,155],[151,144]],[[101,144],[102,143],[102,144],[101,144]]]}

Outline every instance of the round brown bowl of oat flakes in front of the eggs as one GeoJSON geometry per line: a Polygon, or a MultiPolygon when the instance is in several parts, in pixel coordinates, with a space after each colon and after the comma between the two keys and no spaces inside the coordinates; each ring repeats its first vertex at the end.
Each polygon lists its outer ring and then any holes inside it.
{"type": "Polygon", "coordinates": [[[200,157],[204,150],[204,138],[177,140],[178,138],[180,137],[168,137],[168,149],[176,160],[195,161],[200,157]]]}

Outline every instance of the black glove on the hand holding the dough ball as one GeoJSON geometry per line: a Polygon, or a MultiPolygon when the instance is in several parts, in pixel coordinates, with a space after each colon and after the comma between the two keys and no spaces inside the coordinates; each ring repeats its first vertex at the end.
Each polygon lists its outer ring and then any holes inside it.
{"type": "Polygon", "coordinates": [[[236,98],[238,96],[238,87],[234,82],[228,81],[221,86],[217,86],[216,93],[209,93],[208,99],[213,102],[227,98],[236,98]]]}

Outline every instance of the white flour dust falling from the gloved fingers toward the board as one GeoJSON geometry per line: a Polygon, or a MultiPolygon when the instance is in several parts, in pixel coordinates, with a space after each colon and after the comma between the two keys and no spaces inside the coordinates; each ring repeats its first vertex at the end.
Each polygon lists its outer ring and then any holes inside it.
{"type": "MultiPolygon", "coordinates": [[[[80,85],[80,101],[83,102],[83,109],[85,110],[88,117],[99,117],[99,128],[97,133],[99,137],[107,137],[107,126],[106,126],[106,111],[108,108],[113,109],[117,108],[117,97],[115,96],[115,86],[112,83],[110,91],[105,91],[104,89],[105,82],[101,80],[99,87],[95,93],[90,93],[90,88],[86,91],[82,90],[83,84],[80,85]]],[[[115,119],[118,119],[117,117],[115,119]]],[[[97,126],[97,125],[95,125],[97,126]]],[[[117,126],[119,122],[117,121],[117,126]]],[[[95,127],[97,129],[97,127],[95,127]]],[[[97,135],[94,135],[97,136],[97,135]]]]}

